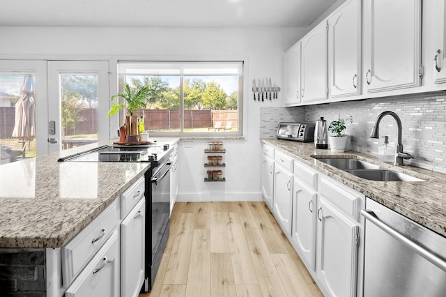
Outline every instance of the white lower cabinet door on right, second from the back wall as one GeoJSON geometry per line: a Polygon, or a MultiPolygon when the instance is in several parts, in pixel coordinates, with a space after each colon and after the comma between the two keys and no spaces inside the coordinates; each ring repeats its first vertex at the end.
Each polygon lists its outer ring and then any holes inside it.
{"type": "Polygon", "coordinates": [[[272,213],[286,234],[291,234],[293,174],[275,164],[274,206],[272,213]]]}

